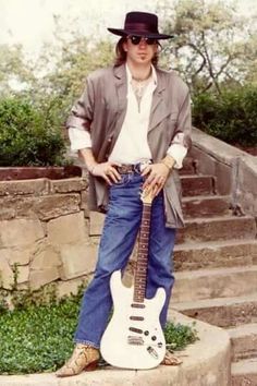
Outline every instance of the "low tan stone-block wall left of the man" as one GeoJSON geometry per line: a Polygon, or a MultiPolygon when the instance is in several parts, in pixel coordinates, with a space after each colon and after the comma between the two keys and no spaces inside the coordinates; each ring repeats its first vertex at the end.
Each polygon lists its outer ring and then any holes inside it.
{"type": "Polygon", "coordinates": [[[102,216],[86,196],[85,178],[0,182],[0,287],[11,288],[15,263],[21,289],[57,281],[63,294],[91,275],[102,216]]]}

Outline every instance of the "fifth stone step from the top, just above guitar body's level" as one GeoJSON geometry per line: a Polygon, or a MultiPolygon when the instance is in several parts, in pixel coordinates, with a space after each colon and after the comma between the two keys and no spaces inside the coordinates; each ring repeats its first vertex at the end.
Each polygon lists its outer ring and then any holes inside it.
{"type": "Polygon", "coordinates": [[[188,242],[174,248],[174,270],[257,264],[257,240],[188,242]]]}

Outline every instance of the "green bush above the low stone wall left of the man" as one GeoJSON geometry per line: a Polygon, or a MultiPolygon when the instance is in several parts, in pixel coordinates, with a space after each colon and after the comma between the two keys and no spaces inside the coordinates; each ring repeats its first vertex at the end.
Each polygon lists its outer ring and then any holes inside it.
{"type": "Polygon", "coordinates": [[[58,166],[65,144],[49,109],[27,98],[0,100],[0,166],[58,166]]]}

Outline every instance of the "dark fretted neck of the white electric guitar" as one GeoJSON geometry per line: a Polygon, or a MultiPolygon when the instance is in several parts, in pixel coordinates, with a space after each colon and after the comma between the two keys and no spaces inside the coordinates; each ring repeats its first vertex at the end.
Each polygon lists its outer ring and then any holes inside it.
{"type": "Polygon", "coordinates": [[[150,214],[151,204],[144,203],[134,279],[134,302],[136,303],[144,303],[146,297],[150,214]]]}

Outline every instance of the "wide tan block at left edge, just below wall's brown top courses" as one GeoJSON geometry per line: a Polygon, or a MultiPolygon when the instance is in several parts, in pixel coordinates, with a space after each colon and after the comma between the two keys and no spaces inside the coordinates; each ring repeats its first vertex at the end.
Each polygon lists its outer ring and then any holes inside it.
{"type": "Polygon", "coordinates": [[[0,222],[0,248],[28,245],[45,237],[39,220],[13,219],[0,222]]]}

